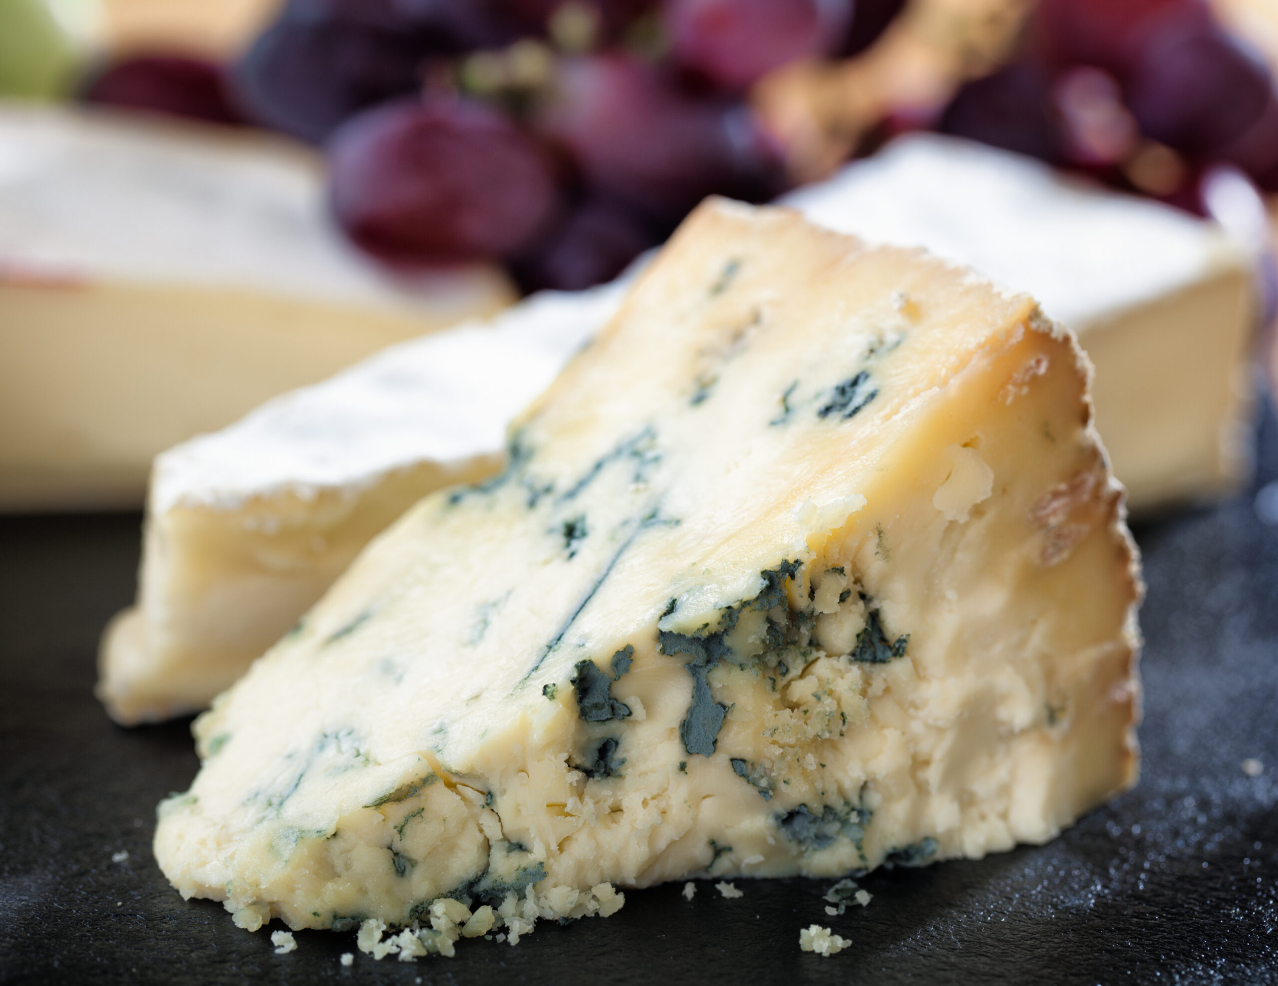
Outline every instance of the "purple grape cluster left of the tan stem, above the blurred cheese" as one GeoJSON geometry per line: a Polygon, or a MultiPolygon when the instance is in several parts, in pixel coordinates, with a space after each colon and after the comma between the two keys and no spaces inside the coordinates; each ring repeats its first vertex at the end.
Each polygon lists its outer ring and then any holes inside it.
{"type": "Polygon", "coordinates": [[[864,47],[901,0],[288,0],[225,70],[142,58],[91,100],[321,146],[334,214],[395,265],[585,288],[711,193],[786,187],[745,92],[864,47]]]}

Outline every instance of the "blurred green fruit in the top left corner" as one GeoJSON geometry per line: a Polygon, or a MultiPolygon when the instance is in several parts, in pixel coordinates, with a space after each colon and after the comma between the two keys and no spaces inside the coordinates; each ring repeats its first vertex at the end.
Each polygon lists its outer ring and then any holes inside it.
{"type": "Polygon", "coordinates": [[[68,95],[93,12],[89,0],[0,0],[0,96],[68,95]]]}

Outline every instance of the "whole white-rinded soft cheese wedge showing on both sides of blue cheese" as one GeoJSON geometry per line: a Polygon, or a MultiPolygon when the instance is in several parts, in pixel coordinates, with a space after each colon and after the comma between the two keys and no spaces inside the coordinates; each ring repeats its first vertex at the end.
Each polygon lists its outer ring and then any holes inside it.
{"type": "MultiPolygon", "coordinates": [[[[1254,288],[1247,252],[1212,224],[928,136],[792,202],[822,225],[921,243],[1028,288],[1079,329],[1102,434],[1137,508],[1245,474],[1254,288]]],[[[104,641],[111,714],[135,723],[204,707],[419,496],[496,471],[500,422],[620,297],[621,285],[548,295],[511,308],[491,339],[408,343],[160,457],[139,602],[104,641]]]]}

